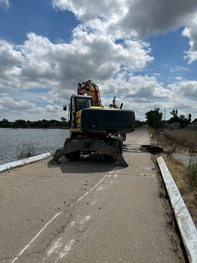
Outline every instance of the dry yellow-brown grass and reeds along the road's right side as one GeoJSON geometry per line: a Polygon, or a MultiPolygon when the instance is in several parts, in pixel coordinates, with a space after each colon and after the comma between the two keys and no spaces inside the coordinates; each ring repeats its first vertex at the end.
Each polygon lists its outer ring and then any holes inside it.
{"type": "MultiPolygon", "coordinates": [[[[196,130],[165,130],[164,134],[159,135],[156,131],[150,129],[149,133],[153,135],[153,143],[159,144],[166,150],[172,149],[176,145],[180,145],[183,148],[185,147],[189,152],[196,151],[196,130]],[[194,142],[196,145],[194,145],[194,142]]],[[[194,224],[197,227],[197,161],[193,160],[185,165],[180,159],[169,159],[166,154],[162,154],[161,156],[167,164],[194,224]]],[[[160,196],[164,197],[163,191],[160,191],[160,196]]]]}

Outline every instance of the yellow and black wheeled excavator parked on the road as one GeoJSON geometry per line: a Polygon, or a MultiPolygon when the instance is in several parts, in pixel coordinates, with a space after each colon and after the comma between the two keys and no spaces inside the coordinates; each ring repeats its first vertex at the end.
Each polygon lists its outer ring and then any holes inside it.
{"type": "MultiPolygon", "coordinates": [[[[135,114],[132,110],[116,105],[116,97],[109,107],[103,107],[98,86],[92,80],[78,83],[77,94],[73,94],[69,104],[70,138],[62,149],[57,149],[50,164],[58,164],[64,155],[77,160],[81,151],[86,154],[99,152],[106,161],[118,161],[128,166],[122,156],[124,133],[135,130],[135,114]]],[[[63,105],[63,110],[67,106],[63,105]]]]}

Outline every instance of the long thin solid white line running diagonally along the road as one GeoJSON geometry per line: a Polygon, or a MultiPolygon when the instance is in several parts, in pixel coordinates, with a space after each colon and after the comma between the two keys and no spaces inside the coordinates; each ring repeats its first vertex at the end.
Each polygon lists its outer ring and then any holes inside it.
{"type": "MultiPolygon", "coordinates": [[[[108,174],[111,174],[113,171],[116,171],[118,170],[119,167],[115,167],[112,171],[110,171],[108,174]]],[[[81,198],[79,198],[75,203],[71,204],[70,206],[66,207],[65,210],[67,210],[68,208],[70,208],[71,206],[75,205],[77,202],[79,202],[82,198],[84,198],[88,193],[90,193],[98,184],[100,184],[102,182],[103,179],[105,179],[105,177],[108,175],[106,174],[95,186],[93,186],[93,188],[90,189],[90,191],[88,191],[87,193],[85,193],[85,195],[81,196],[81,198]]],[[[113,181],[112,181],[113,182],[113,181]]],[[[111,183],[112,183],[111,182],[111,183]]],[[[20,251],[20,253],[18,254],[17,257],[15,257],[13,260],[12,260],[12,263],[18,259],[18,257],[32,244],[32,242],[40,235],[40,233],[42,233],[42,231],[48,226],[48,224],[50,224],[50,222],[56,218],[58,215],[60,215],[61,213],[63,212],[60,212],[58,214],[56,214],[53,218],[51,218],[51,220],[49,220],[49,222],[46,223],[46,225],[38,232],[37,235],[34,236],[34,238],[29,242],[29,244],[24,247],[23,250],[20,251]]]]}

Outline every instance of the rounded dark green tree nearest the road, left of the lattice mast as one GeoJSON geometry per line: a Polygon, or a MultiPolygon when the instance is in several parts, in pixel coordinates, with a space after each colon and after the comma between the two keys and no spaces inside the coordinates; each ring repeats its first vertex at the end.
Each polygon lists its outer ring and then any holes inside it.
{"type": "Polygon", "coordinates": [[[152,128],[155,127],[155,130],[158,130],[162,126],[162,117],[163,113],[159,112],[159,108],[155,107],[154,110],[149,110],[145,113],[145,118],[148,121],[148,125],[152,128]]]}

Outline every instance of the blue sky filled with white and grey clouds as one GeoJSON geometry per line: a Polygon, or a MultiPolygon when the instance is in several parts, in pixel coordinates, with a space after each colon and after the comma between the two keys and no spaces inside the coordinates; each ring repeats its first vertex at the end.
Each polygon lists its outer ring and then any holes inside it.
{"type": "Polygon", "coordinates": [[[105,107],[194,120],[196,69],[196,0],[0,0],[0,120],[68,119],[89,79],[105,107]]]}

